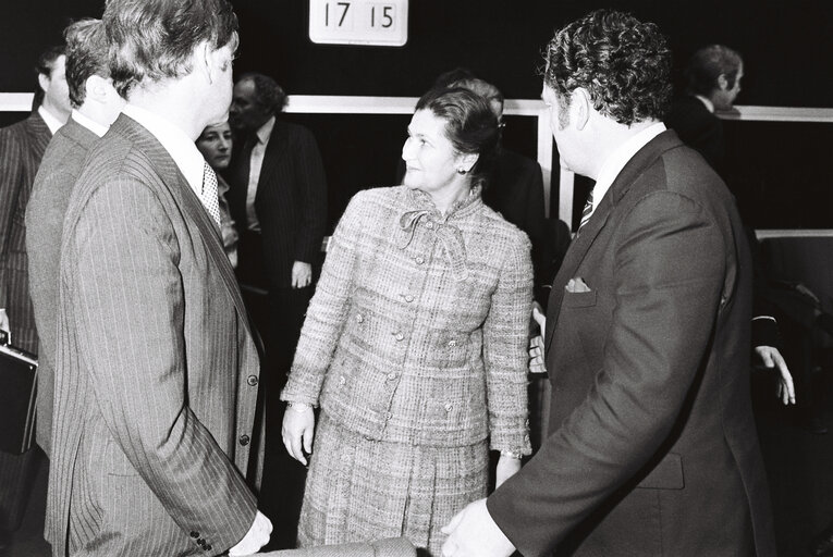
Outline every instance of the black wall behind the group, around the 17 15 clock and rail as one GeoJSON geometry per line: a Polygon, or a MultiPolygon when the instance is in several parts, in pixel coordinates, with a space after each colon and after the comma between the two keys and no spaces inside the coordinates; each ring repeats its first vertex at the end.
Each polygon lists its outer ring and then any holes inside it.
{"type": "MultiPolygon", "coordinates": [[[[241,49],[235,73],[271,74],[290,95],[417,97],[437,74],[466,66],[507,98],[538,98],[541,49],[554,28],[602,5],[657,22],[677,66],[700,46],[726,44],[745,60],[740,104],[833,107],[833,2],[830,0],[411,0],[404,47],[315,45],[305,0],[237,0],[241,49]]],[[[0,91],[30,91],[34,61],[73,17],[100,16],[102,0],[4,2],[0,91]]],[[[0,124],[24,114],[0,113],[0,124]]],[[[290,114],[316,134],[330,186],[331,225],[358,189],[392,184],[407,116],[290,114]]],[[[833,227],[828,211],[798,205],[810,188],[831,207],[825,149],[830,124],[726,125],[731,180],[758,227],[833,227]]],[[[534,119],[512,117],[506,145],[536,153],[534,119]]],[[[558,158],[553,165],[558,177],[558,158]]],[[[558,184],[553,184],[553,194],[558,184]]],[[[581,206],[581,187],[576,203],[581,206]]],[[[556,196],[553,195],[553,201],[556,196]]],[[[556,205],[554,203],[556,207],[556,205]]]]}

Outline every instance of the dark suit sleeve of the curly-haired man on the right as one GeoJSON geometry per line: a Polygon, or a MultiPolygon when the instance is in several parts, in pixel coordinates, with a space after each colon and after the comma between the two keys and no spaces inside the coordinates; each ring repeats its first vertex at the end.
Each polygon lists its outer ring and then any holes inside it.
{"type": "Polygon", "coordinates": [[[550,555],[656,454],[708,354],[722,306],[730,248],[698,203],[670,191],[646,196],[615,240],[615,309],[598,332],[604,348],[595,385],[487,503],[525,556],[550,555]]]}

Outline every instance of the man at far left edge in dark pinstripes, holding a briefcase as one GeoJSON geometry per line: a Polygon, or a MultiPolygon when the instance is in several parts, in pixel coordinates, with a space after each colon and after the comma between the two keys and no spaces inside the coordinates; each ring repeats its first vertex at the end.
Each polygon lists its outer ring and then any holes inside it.
{"type": "MultiPolygon", "coordinates": [[[[63,47],[38,59],[34,110],[24,121],[0,129],[0,329],[15,346],[37,354],[35,315],[29,300],[24,215],[32,183],[52,134],[70,115],[63,47]]],[[[0,548],[20,527],[38,451],[0,453],[0,548]]]]}

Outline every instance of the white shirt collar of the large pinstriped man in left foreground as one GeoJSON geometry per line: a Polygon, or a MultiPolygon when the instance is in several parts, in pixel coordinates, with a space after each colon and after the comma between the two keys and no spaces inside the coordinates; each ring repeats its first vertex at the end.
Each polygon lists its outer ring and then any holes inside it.
{"type": "Polygon", "coordinates": [[[122,113],[142,124],[162,144],[191,188],[199,196],[206,161],[187,134],[163,117],[135,104],[126,104],[122,113]]]}

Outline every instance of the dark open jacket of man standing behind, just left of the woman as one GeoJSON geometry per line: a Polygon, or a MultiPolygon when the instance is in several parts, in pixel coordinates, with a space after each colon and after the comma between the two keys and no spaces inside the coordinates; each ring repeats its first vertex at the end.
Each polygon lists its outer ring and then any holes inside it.
{"type": "MultiPolygon", "coordinates": [[[[241,233],[247,222],[250,154],[245,148],[235,150],[229,172],[228,199],[241,233]]],[[[315,263],[320,259],[327,224],[323,164],[315,137],[306,127],[275,120],[260,169],[255,211],[260,222],[269,286],[290,287],[295,261],[315,263]]]]}

